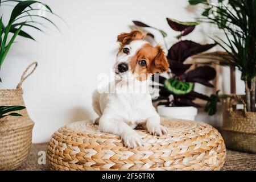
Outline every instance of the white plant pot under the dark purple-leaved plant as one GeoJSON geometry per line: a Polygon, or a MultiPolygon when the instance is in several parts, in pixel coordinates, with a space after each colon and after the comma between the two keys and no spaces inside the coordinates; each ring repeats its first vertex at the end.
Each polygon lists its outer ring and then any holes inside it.
{"type": "Polygon", "coordinates": [[[158,113],[165,118],[188,119],[195,121],[197,115],[196,107],[168,107],[160,105],[157,107],[158,113]]]}

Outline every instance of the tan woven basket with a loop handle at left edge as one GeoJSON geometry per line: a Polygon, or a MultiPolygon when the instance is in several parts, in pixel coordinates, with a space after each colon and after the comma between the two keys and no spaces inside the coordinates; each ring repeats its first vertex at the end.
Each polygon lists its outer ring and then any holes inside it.
{"type": "MultiPolygon", "coordinates": [[[[24,106],[22,97],[22,82],[34,72],[37,63],[32,63],[23,73],[16,89],[0,90],[0,105],[24,106]],[[28,69],[35,65],[28,74],[28,69]]],[[[27,109],[17,111],[22,117],[7,116],[0,119],[0,170],[12,170],[19,167],[26,160],[32,138],[34,122],[28,116],[27,109]]]]}

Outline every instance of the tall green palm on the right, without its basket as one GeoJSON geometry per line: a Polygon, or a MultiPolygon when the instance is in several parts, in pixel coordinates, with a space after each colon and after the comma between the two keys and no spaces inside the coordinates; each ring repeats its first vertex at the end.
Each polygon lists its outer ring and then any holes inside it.
{"type": "Polygon", "coordinates": [[[224,31],[226,40],[214,39],[229,55],[224,56],[220,64],[241,71],[246,88],[246,109],[255,112],[256,0],[218,0],[216,4],[207,0],[188,2],[205,5],[201,20],[216,24],[224,31]]]}

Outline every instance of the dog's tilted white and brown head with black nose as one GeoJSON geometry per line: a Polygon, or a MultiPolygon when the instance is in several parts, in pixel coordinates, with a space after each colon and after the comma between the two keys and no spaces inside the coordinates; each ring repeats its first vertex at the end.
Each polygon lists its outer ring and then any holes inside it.
{"type": "Polygon", "coordinates": [[[121,78],[147,80],[148,75],[168,70],[169,64],[162,47],[146,42],[146,34],[139,30],[118,35],[120,43],[114,72],[121,78]]]}

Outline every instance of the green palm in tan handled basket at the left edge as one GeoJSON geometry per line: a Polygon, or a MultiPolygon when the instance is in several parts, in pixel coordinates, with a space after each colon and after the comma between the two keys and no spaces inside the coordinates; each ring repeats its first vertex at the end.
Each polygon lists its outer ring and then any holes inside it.
{"type": "MultiPolygon", "coordinates": [[[[0,14],[0,69],[17,36],[35,40],[30,34],[23,31],[24,27],[42,31],[40,29],[42,22],[38,22],[38,20],[51,22],[48,18],[37,14],[39,9],[34,8],[34,4],[38,3],[46,8],[46,10],[40,11],[53,14],[48,5],[38,1],[0,0],[0,8],[4,7],[3,5],[10,5],[12,2],[15,3],[15,6],[8,22],[3,22],[4,15],[0,14]]],[[[32,63],[26,69],[16,89],[0,90],[0,170],[19,167],[29,154],[34,122],[24,107],[22,82],[34,72],[36,65],[37,63],[32,63]],[[28,69],[33,65],[34,69],[27,74],[28,69]],[[17,113],[13,113],[13,111],[17,111],[17,113]]],[[[1,78],[0,81],[2,82],[1,78]]]]}

